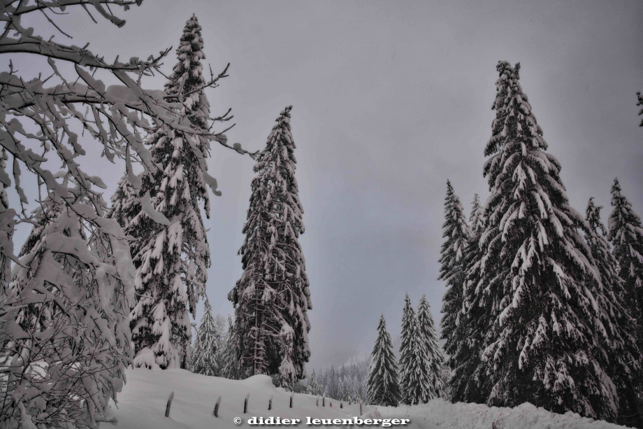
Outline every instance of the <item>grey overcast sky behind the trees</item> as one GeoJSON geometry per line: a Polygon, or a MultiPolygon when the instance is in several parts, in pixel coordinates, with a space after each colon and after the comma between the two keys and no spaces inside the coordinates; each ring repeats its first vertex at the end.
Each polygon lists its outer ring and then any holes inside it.
{"type": "MultiPolygon", "coordinates": [[[[572,206],[584,213],[595,196],[607,222],[618,176],[643,215],[635,105],[643,91],[643,1],[146,0],[120,13],[122,29],[81,12],[59,24],[71,43],[89,41],[108,59],[175,48],[196,13],[205,63],[218,72],[231,62],[229,78],[207,92],[212,113],[231,107],[237,125],[229,139],[249,150],[263,148],[282,108],[294,106],[313,304],[309,371],[363,357],[380,313],[398,336],[406,292],[416,305],[426,294],[439,323],[445,182],[467,214],[474,192],[483,201],[489,195],[482,150],[500,59],[521,63],[523,90],[563,165],[572,206]]],[[[40,34],[55,32],[35,24],[40,34]]],[[[174,63],[172,53],[165,70],[174,63]]],[[[87,163],[103,171],[108,199],[122,165],[87,163]]],[[[254,163],[213,147],[209,164],[223,196],[206,222],[208,296],[215,312],[228,314],[254,163]]]]}

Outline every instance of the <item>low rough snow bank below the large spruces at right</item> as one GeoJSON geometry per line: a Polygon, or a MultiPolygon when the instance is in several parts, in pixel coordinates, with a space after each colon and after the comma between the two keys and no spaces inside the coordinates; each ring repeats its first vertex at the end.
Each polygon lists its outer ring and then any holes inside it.
{"type": "Polygon", "coordinates": [[[427,404],[377,407],[384,417],[407,416],[419,428],[440,429],[623,429],[624,426],[595,421],[567,412],[556,414],[526,402],[515,408],[481,404],[451,404],[435,399],[427,404]]]}

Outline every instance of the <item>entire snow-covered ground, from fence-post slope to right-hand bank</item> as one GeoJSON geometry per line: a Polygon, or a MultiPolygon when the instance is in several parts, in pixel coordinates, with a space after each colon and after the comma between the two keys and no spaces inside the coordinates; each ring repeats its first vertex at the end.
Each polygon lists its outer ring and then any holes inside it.
{"type": "MultiPolygon", "coordinates": [[[[250,428],[252,416],[300,419],[297,426],[272,425],[263,427],[321,428],[307,426],[306,418],[349,419],[359,416],[359,405],[347,405],[326,398],[326,407],[317,407],[317,397],[294,395],[294,407],[289,407],[291,393],[275,388],[268,376],[250,377],[243,381],[219,377],[205,377],[186,370],[128,370],[127,384],[117,396],[118,407],[112,406],[118,423],[101,423],[101,427],[115,429],[173,429],[173,428],[250,428]],[[165,417],[168,395],[174,392],[170,417],[165,417]],[[250,393],[247,414],[243,414],[245,395],[250,393]],[[221,395],[219,417],[212,415],[217,397],[221,395]],[[273,409],[268,411],[268,400],[273,397],[273,409]],[[235,417],[242,423],[236,425],[235,417]]],[[[362,419],[410,419],[408,429],[623,429],[605,421],[593,421],[578,414],[554,414],[530,404],[516,408],[486,407],[479,404],[451,404],[432,400],[412,407],[364,407],[362,419]],[[380,416],[381,414],[381,416],[380,416]]],[[[333,426],[347,427],[347,426],[333,426]]],[[[382,426],[356,426],[379,428],[382,426]]]]}

